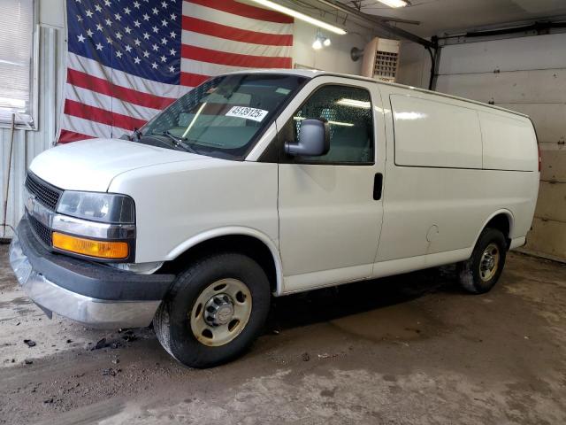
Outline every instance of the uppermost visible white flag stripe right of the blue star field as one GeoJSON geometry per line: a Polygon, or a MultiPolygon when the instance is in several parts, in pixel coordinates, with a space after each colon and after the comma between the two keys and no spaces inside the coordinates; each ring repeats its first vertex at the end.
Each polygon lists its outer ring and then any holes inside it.
{"type": "Polygon", "coordinates": [[[224,11],[218,11],[210,7],[200,4],[183,2],[183,15],[191,18],[203,19],[211,21],[215,24],[225,25],[226,27],[234,27],[245,29],[247,31],[256,31],[258,33],[292,35],[293,24],[280,24],[279,22],[270,22],[266,20],[246,18],[240,15],[234,15],[224,11]]]}

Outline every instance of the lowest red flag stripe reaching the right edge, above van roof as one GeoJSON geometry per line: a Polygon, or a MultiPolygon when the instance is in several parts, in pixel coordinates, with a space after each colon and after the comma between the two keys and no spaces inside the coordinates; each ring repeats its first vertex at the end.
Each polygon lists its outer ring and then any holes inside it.
{"type": "Polygon", "coordinates": [[[210,64],[243,66],[248,68],[290,68],[291,58],[272,56],[251,56],[228,53],[226,51],[203,49],[202,47],[182,44],[180,56],[187,59],[199,60],[210,64]]]}

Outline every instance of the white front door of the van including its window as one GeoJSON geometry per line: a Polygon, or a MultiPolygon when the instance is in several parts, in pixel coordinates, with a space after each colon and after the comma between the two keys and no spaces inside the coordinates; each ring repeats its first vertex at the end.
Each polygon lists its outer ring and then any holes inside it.
{"type": "Polygon", "coordinates": [[[385,134],[377,84],[323,76],[279,117],[279,250],[284,291],[371,275],[383,218],[385,134]],[[330,151],[290,156],[304,119],[325,119],[330,151]]]}

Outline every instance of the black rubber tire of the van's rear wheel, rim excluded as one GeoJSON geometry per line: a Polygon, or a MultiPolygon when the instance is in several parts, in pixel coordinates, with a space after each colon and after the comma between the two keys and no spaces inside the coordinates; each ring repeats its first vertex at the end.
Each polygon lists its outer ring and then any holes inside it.
{"type": "Polygon", "coordinates": [[[458,265],[458,279],[464,290],[472,294],[484,294],[491,290],[495,283],[499,280],[503,267],[505,267],[505,258],[507,254],[507,241],[501,230],[496,228],[485,228],[479,235],[478,243],[472,251],[470,259],[463,261],[458,265]],[[488,247],[497,246],[499,251],[499,259],[497,266],[493,267],[493,274],[487,274],[482,277],[482,257],[488,247]]]}

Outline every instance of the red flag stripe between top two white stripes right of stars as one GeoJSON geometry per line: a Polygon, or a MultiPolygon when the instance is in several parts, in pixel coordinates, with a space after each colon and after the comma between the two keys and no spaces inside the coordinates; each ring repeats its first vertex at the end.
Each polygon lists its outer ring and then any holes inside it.
{"type": "Polygon", "coordinates": [[[268,34],[257,31],[249,31],[226,25],[215,24],[208,20],[183,16],[183,29],[195,33],[212,35],[214,37],[233,40],[234,42],[251,42],[253,44],[265,44],[269,46],[292,46],[292,34],[268,34]]]}

